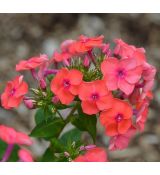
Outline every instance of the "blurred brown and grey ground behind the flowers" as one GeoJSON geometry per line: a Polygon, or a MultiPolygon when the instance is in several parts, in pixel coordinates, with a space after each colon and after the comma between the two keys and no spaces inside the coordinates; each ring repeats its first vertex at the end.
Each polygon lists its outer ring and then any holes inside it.
{"type": "MultiPolygon", "coordinates": [[[[122,38],[129,44],[146,49],[148,62],[160,70],[160,14],[0,14],[0,92],[6,81],[17,73],[15,65],[39,53],[52,55],[65,39],[78,35],[104,35],[106,42],[122,38]]],[[[27,82],[34,83],[30,74],[27,82]]],[[[134,137],[124,151],[109,153],[110,161],[160,161],[160,76],[156,76],[145,131],[134,137]]],[[[29,133],[34,127],[35,111],[23,105],[6,111],[0,107],[0,124],[29,133]]],[[[98,144],[108,143],[99,129],[98,144]]],[[[41,155],[47,143],[36,141],[35,156],[41,155]]]]}

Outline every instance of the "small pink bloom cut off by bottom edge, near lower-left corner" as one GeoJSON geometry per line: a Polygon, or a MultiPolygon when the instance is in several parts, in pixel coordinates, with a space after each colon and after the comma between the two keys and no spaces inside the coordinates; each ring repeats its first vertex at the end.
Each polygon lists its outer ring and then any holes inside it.
{"type": "Polygon", "coordinates": [[[30,151],[26,149],[20,149],[18,151],[18,156],[20,158],[20,161],[23,162],[33,162],[32,154],[30,151]]]}

